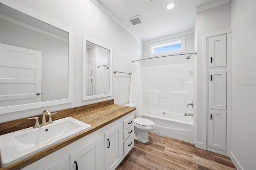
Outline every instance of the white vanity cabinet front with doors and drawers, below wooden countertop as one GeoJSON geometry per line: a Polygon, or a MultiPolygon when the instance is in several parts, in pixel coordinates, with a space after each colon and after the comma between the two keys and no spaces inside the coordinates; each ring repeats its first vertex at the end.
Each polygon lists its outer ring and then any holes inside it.
{"type": "Polygon", "coordinates": [[[23,169],[76,170],[76,164],[78,170],[115,169],[133,146],[134,112],[72,142],[23,169]],[[131,121],[132,123],[130,123],[131,121]],[[124,138],[124,135],[127,138],[124,138]]]}

